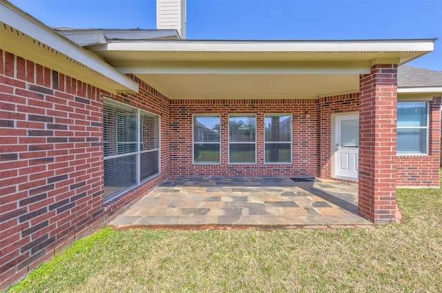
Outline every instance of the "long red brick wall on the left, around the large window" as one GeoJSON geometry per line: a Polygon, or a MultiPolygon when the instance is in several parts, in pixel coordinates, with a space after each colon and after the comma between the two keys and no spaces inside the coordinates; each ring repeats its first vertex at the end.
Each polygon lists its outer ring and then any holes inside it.
{"type": "Polygon", "coordinates": [[[169,176],[169,100],[138,82],[112,95],[0,50],[0,289],[169,176]],[[166,134],[162,174],[106,206],[104,95],[160,114],[166,134]]]}

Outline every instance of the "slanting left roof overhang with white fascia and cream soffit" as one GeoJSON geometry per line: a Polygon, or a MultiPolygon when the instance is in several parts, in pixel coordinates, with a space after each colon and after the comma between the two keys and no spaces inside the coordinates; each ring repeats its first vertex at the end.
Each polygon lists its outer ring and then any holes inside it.
{"type": "Polygon", "coordinates": [[[0,1],[0,48],[109,92],[138,84],[7,1],[0,1]]]}

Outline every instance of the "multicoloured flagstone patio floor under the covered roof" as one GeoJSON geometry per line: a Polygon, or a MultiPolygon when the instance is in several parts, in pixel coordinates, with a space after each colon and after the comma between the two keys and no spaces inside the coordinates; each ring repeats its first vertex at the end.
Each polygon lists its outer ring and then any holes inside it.
{"type": "Polygon", "coordinates": [[[327,179],[171,177],[109,225],[372,225],[357,194],[357,184],[327,179]]]}

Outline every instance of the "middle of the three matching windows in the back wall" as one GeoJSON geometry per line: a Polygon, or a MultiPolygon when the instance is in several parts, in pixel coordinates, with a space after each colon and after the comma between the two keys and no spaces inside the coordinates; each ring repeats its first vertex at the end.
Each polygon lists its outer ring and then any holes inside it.
{"type": "Polygon", "coordinates": [[[256,163],[255,115],[229,115],[229,163],[256,163]]]}

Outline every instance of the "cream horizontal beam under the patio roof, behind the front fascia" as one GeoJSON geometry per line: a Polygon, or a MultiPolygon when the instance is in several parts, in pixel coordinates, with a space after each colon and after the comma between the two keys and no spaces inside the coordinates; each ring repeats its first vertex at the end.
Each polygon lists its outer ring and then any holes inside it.
{"type": "Polygon", "coordinates": [[[358,62],[195,62],[151,61],[115,66],[133,74],[368,74],[368,61],[358,62]]]}

